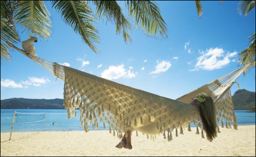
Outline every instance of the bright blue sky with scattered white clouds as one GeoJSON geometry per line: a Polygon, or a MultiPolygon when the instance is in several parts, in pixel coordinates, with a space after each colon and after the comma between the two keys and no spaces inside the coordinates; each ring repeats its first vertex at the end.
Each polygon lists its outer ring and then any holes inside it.
{"type": "MultiPolygon", "coordinates": [[[[167,24],[167,39],[156,40],[134,29],[132,43],[126,44],[114,25],[99,19],[95,25],[100,54],[47,4],[53,30],[48,40],[35,43],[37,56],[172,99],[238,69],[238,53],[255,32],[255,9],[244,17],[237,12],[238,1],[203,1],[199,18],[194,1],[157,3],[167,24]]],[[[18,30],[26,40],[26,31],[18,30]]],[[[255,92],[254,76],[255,68],[240,76],[241,88],[255,92]]],[[[237,89],[234,85],[232,94],[237,89]]],[[[63,81],[55,82],[47,70],[13,51],[12,61],[1,64],[1,100],[13,97],[63,98],[63,81]]]]}

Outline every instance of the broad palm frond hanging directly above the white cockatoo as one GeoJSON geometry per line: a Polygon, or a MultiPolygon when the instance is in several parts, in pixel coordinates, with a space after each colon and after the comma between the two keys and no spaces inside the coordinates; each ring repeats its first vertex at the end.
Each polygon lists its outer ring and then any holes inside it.
{"type": "Polygon", "coordinates": [[[43,38],[51,35],[51,20],[44,1],[19,1],[16,5],[16,21],[25,29],[43,38]]]}

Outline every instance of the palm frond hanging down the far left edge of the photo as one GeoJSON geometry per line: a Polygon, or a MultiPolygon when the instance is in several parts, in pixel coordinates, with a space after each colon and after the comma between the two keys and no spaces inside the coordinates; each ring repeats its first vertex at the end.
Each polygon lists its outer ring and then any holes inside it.
{"type": "Polygon", "coordinates": [[[13,5],[10,1],[1,1],[1,62],[5,58],[10,60],[8,42],[17,44],[20,39],[13,21],[13,5]]]}

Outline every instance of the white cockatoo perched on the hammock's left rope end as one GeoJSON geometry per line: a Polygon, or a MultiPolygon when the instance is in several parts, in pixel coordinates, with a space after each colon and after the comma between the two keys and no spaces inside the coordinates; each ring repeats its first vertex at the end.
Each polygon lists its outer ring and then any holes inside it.
{"type": "Polygon", "coordinates": [[[36,56],[34,42],[37,42],[37,37],[29,35],[29,39],[22,42],[23,49],[32,56],[36,56]]]}

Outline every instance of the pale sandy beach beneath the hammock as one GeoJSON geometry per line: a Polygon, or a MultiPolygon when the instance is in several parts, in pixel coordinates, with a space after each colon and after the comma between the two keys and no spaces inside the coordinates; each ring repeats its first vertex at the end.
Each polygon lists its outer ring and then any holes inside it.
{"type": "Polygon", "coordinates": [[[9,133],[1,133],[1,156],[255,156],[255,125],[221,128],[211,143],[195,132],[173,134],[172,142],[133,133],[132,150],[115,148],[120,140],[109,131],[14,132],[8,142],[9,133]]]}

